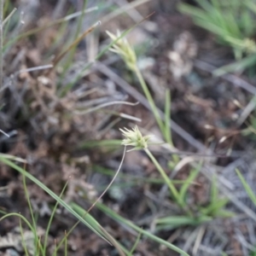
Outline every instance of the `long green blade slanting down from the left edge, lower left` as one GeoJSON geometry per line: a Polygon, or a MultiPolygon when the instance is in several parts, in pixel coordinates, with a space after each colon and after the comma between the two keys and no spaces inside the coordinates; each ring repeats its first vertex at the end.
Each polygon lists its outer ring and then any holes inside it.
{"type": "MultiPolygon", "coordinates": [[[[4,159],[3,157],[0,157],[0,161],[3,162],[5,165],[12,167],[17,172],[20,172],[20,174],[24,174],[27,178],[29,178],[33,183],[36,183],[41,189],[43,189],[47,194],[49,194],[52,198],[55,199],[62,207],[64,207],[68,212],[72,213],[74,217],[78,218],[79,221],[81,221],[83,224],[85,224],[90,230],[94,231],[96,235],[102,237],[103,240],[108,241],[106,237],[102,234],[102,231],[99,232],[99,224],[97,226],[96,220],[94,219],[94,222],[91,221],[91,223],[95,224],[95,226],[91,226],[90,223],[86,222],[84,218],[81,218],[77,212],[73,210],[72,207],[70,207],[67,202],[61,200],[61,198],[56,195],[53,191],[51,191],[48,187],[44,185],[44,183],[41,183],[36,177],[33,177],[29,172],[26,172],[26,170],[20,168],[20,166],[16,166],[15,163],[13,163],[10,160],[4,159]]],[[[92,217],[90,217],[92,219],[92,217]]]]}

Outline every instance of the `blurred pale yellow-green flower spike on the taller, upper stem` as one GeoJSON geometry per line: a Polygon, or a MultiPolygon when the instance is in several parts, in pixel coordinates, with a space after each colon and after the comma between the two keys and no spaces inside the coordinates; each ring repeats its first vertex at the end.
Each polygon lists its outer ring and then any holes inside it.
{"type": "Polygon", "coordinates": [[[120,55],[127,67],[134,71],[137,67],[137,56],[127,39],[122,37],[119,31],[117,35],[108,31],[107,34],[109,38],[116,42],[110,50],[120,55]]]}

